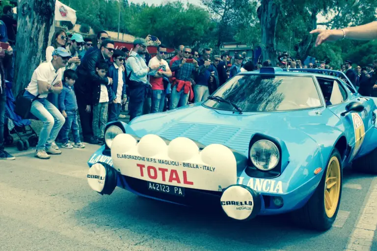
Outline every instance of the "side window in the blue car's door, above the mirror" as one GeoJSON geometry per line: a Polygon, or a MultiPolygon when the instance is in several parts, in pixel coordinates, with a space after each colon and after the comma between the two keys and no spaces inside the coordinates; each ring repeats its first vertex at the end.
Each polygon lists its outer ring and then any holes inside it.
{"type": "Polygon", "coordinates": [[[348,98],[347,91],[337,80],[317,78],[326,106],[339,105],[348,98]]]}

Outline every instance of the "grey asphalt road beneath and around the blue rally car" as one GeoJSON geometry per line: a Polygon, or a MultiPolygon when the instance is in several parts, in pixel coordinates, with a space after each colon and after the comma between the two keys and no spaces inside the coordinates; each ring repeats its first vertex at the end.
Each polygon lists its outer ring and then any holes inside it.
{"type": "Polygon", "coordinates": [[[99,195],[86,180],[86,161],[97,148],[63,149],[50,160],[34,158],[32,149],[9,149],[17,159],[0,162],[1,251],[377,250],[374,176],[345,171],[335,226],[319,233],[285,215],[240,223],[212,208],[162,203],[119,188],[99,195]]]}

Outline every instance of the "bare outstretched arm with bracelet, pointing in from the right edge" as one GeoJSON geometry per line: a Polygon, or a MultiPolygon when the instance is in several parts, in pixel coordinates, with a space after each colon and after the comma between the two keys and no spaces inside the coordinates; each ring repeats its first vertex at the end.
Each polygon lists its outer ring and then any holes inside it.
{"type": "Polygon", "coordinates": [[[316,40],[316,47],[326,41],[336,41],[343,37],[354,40],[377,39],[377,21],[355,27],[343,29],[315,29],[311,34],[319,33],[316,40]]]}

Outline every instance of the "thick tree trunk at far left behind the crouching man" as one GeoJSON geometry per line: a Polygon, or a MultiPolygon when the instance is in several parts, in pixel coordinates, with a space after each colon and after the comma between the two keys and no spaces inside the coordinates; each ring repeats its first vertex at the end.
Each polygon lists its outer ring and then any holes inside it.
{"type": "Polygon", "coordinates": [[[46,57],[54,28],[55,0],[19,0],[13,93],[29,84],[33,71],[46,57]]]}

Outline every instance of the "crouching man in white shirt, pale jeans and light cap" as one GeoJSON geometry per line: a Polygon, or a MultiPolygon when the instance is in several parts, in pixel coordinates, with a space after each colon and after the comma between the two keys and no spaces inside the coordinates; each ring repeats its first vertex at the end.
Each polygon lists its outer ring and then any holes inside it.
{"type": "Polygon", "coordinates": [[[49,154],[61,154],[60,150],[52,147],[52,143],[64,125],[65,118],[46,98],[49,93],[61,92],[62,71],[59,69],[66,66],[69,58],[71,55],[66,49],[62,47],[55,49],[53,60],[41,63],[35,69],[24,93],[25,97],[35,99],[31,104],[30,113],[43,123],[35,151],[35,157],[40,159],[50,159],[49,154]]]}

